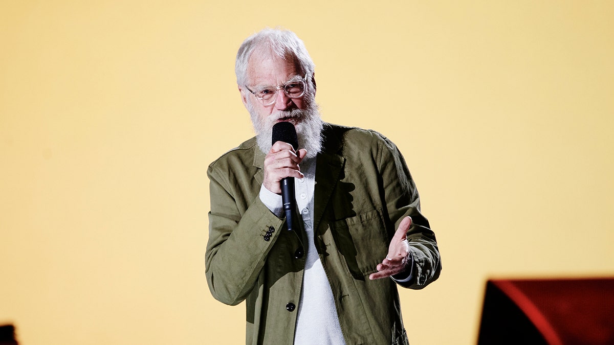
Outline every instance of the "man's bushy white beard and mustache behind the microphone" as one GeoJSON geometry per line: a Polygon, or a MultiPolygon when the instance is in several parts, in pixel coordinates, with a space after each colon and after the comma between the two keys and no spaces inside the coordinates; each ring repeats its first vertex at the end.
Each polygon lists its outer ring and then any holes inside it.
{"type": "Polygon", "coordinates": [[[315,102],[307,102],[307,109],[305,110],[279,110],[268,115],[266,118],[262,118],[254,109],[251,99],[248,99],[247,111],[249,111],[249,115],[252,118],[258,147],[265,154],[271,150],[273,125],[281,118],[292,118],[290,122],[297,130],[298,148],[307,151],[305,158],[314,158],[322,151],[322,129],[324,128],[324,122],[322,122],[315,102]]]}

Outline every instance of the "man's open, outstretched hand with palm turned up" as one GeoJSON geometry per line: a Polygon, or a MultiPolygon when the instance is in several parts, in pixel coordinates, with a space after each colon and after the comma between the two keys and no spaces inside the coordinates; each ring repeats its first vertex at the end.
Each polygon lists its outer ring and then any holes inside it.
{"type": "Polygon", "coordinates": [[[397,232],[394,233],[390,246],[388,247],[388,255],[378,264],[378,272],[369,276],[369,279],[379,279],[389,276],[394,276],[405,271],[407,262],[411,258],[410,243],[407,241],[407,230],[411,226],[411,217],[405,217],[398,225],[397,232]]]}

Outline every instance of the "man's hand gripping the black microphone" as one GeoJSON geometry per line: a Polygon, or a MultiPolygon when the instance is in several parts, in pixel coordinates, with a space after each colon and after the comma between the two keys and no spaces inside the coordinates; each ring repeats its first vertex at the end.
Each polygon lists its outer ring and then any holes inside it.
{"type": "Polygon", "coordinates": [[[303,177],[303,173],[298,167],[303,161],[307,150],[300,149],[296,153],[292,145],[287,142],[278,141],[271,147],[265,157],[265,177],[262,184],[266,189],[273,193],[281,194],[279,181],[284,177],[303,177]]]}

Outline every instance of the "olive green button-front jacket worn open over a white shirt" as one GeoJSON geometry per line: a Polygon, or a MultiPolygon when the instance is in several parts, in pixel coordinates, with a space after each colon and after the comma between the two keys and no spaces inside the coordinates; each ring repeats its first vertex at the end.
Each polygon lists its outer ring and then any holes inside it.
{"type": "MultiPolygon", "coordinates": [[[[314,242],[346,344],[407,344],[395,282],[368,275],[410,215],[414,279],[401,284],[422,289],[439,276],[437,242],[419,211],[418,191],[397,147],[381,134],[325,124],[324,138],[316,158],[314,242]]],[[[260,201],[264,158],[252,138],[209,166],[205,271],[217,300],[246,300],[246,344],[292,344],[292,306],[300,301],[306,257],[296,254],[307,247],[306,236],[300,218],[301,230],[287,231],[260,201]]]]}

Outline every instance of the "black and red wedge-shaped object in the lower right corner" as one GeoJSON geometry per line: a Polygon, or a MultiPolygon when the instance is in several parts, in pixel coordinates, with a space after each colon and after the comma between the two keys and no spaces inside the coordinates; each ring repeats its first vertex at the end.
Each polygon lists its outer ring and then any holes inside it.
{"type": "Polygon", "coordinates": [[[479,345],[614,344],[614,279],[492,280],[479,345]]]}

